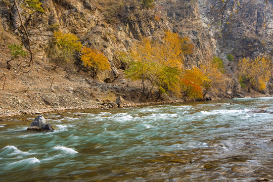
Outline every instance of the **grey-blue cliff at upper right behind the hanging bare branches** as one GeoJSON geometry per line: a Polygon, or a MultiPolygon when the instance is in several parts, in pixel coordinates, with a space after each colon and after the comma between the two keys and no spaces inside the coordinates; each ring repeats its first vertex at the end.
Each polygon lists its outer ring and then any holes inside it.
{"type": "Polygon", "coordinates": [[[243,57],[255,58],[272,51],[272,8],[273,2],[240,1],[232,12],[230,1],[225,13],[211,13],[220,10],[221,5],[211,8],[215,1],[199,1],[202,19],[217,40],[217,55],[226,60],[226,54],[233,54],[238,61],[243,57]],[[213,9],[213,10],[212,10],[213,9]],[[237,12],[235,12],[238,10],[237,12]]]}

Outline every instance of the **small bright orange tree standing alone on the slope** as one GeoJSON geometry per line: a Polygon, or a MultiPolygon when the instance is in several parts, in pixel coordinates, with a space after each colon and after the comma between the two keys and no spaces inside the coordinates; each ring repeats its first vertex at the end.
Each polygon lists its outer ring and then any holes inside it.
{"type": "Polygon", "coordinates": [[[84,47],[82,49],[81,60],[85,67],[92,70],[93,79],[97,76],[99,71],[110,69],[108,59],[103,55],[103,53],[97,50],[84,47]]]}

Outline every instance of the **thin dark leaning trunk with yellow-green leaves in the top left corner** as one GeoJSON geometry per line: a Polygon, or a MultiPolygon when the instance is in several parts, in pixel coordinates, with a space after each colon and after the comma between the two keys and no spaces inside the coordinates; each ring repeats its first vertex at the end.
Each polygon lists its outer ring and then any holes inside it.
{"type": "MultiPolygon", "coordinates": [[[[29,37],[28,29],[25,26],[25,22],[23,21],[22,15],[24,13],[28,13],[30,15],[34,14],[35,12],[43,13],[44,10],[43,10],[43,8],[41,6],[41,2],[39,0],[13,0],[12,6],[8,9],[10,11],[11,16],[13,15],[12,11],[11,11],[12,9],[15,9],[17,11],[17,14],[18,14],[18,17],[19,17],[19,21],[20,21],[19,27],[16,27],[13,30],[18,30],[18,29],[22,29],[23,30],[23,32],[25,33],[25,37],[23,37],[24,40],[23,40],[22,44],[24,44],[24,43],[27,44],[27,47],[25,47],[25,48],[29,52],[29,61],[28,61],[28,64],[20,66],[20,68],[18,69],[17,73],[22,68],[26,68],[26,67],[30,67],[30,69],[28,71],[25,71],[25,72],[29,72],[31,70],[32,66],[33,66],[33,56],[36,55],[36,54],[33,53],[33,51],[32,51],[31,43],[33,43],[33,41],[29,37]]],[[[16,47],[17,47],[16,49],[18,50],[18,48],[20,48],[20,46],[21,45],[16,45],[16,47]]],[[[15,46],[14,46],[14,48],[15,48],[15,46]]],[[[10,61],[7,61],[7,64],[9,64],[9,63],[10,63],[10,61]]],[[[15,76],[17,75],[17,73],[15,74],[15,76]]]]}

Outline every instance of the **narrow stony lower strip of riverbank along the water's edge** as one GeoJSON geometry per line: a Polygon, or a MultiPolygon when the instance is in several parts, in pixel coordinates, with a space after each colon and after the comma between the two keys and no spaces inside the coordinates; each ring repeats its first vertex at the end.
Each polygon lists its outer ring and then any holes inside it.
{"type": "MultiPolygon", "coordinates": [[[[99,82],[97,82],[99,83],[99,82]]],[[[104,84],[102,84],[104,85],[104,84]]],[[[105,86],[105,85],[104,85],[105,86]]],[[[103,87],[104,87],[103,86],[103,87]]],[[[182,103],[187,101],[200,101],[199,99],[189,98],[175,98],[165,96],[160,101],[152,101],[153,98],[140,101],[141,94],[138,92],[128,92],[131,88],[124,88],[124,91],[116,90],[113,94],[113,90],[109,88],[107,94],[101,94],[94,96],[94,93],[90,93],[90,88],[76,88],[70,87],[71,89],[66,92],[56,93],[54,88],[51,93],[44,92],[32,92],[29,90],[27,93],[0,93],[1,97],[1,108],[0,118],[12,117],[17,115],[30,115],[30,114],[44,114],[51,112],[61,112],[69,110],[86,110],[86,109],[108,109],[113,106],[111,102],[115,103],[118,96],[125,98],[123,107],[138,107],[145,105],[157,105],[157,104],[168,104],[168,103],[182,103]],[[73,88],[73,89],[72,89],[73,88]],[[133,97],[132,97],[133,96],[133,97]],[[137,97],[136,97],[137,96],[137,97]]],[[[98,88],[98,87],[97,87],[98,88]]],[[[118,87],[117,87],[118,88],[118,87]]],[[[252,90],[251,93],[244,95],[248,98],[253,97],[270,97],[256,93],[252,90]]],[[[222,100],[222,99],[233,99],[233,98],[211,98],[211,100],[222,100]]]]}

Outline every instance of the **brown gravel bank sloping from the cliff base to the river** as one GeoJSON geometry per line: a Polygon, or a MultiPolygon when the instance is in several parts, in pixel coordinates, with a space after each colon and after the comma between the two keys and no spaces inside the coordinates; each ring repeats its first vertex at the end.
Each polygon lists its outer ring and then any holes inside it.
{"type": "MultiPolygon", "coordinates": [[[[77,67],[68,70],[63,68],[53,70],[52,66],[43,61],[36,61],[35,68],[29,73],[19,73],[12,78],[16,69],[7,70],[4,63],[0,64],[2,85],[0,118],[66,110],[106,109],[105,107],[114,107],[109,103],[115,102],[119,96],[124,99],[124,107],[198,100],[167,95],[157,99],[155,93],[148,98],[142,98],[139,86],[141,83],[126,79],[122,73],[123,70],[117,70],[118,76],[111,83],[105,83],[102,80],[93,81],[90,75],[82,70],[75,71],[77,67]],[[121,85],[122,80],[125,80],[124,85],[121,85]]],[[[250,93],[240,90],[236,92],[237,95],[221,94],[220,98],[208,93],[206,97],[213,100],[239,96],[266,97],[254,90],[251,90],[250,93]],[[241,94],[238,95],[238,93],[241,94]]]]}

